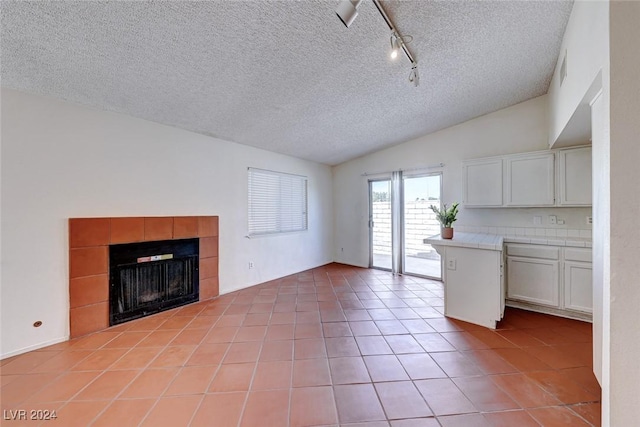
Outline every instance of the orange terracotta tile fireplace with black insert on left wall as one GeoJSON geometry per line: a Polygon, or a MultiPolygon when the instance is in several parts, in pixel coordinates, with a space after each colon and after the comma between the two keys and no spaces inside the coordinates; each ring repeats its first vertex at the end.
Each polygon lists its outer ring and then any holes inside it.
{"type": "MultiPolygon", "coordinates": [[[[112,264],[111,261],[113,261],[111,259],[113,257],[113,249],[122,247],[123,244],[131,243],[140,244],[143,249],[156,246],[157,243],[160,248],[152,249],[152,252],[159,250],[163,253],[155,254],[154,252],[153,254],[150,253],[149,256],[165,256],[165,259],[154,259],[154,261],[158,262],[143,262],[142,264],[146,264],[142,268],[143,274],[152,276],[156,274],[160,277],[169,270],[175,270],[182,279],[188,278],[189,274],[197,274],[195,297],[193,292],[191,292],[191,297],[185,297],[185,295],[182,295],[183,291],[164,288],[169,294],[177,296],[178,305],[198,300],[202,301],[218,295],[217,216],[71,218],[69,219],[69,320],[71,338],[106,329],[110,324],[120,323],[120,319],[113,322],[113,313],[110,312],[109,308],[110,294],[112,294],[112,288],[115,286],[114,281],[110,280],[109,267],[112,264]],[[171,262],[168,259],[168,255],[172,254],[173,256],[173,252],[171,249],[167,249],[167,245],[171,245],[172,242],[184,242],[187,241],[186,239],[191,241],[192,247],[195,247],[195,252],[198,254],[196,258],[197,265],[194,264],[191,267],[189,267],[188,263],[183,263],[182,266],[179,266],[180,263],[171,262]],[[152,264],[154,267],[151,267],[152,264]],[[163,266],[161,269],[156,268],[156,266],[160,265],[163,266]],[[193,268],[193,271],[191,273],[186,272],[185,268],[193,268]]],[[[138,263],[138,258],[144,258],[144,255],[135,257],[136,264],[138,263]]],[[[190,262],[193,264],[194,261],[190,262]]],[[[176,284],[174,283],[171,286],[175,287],[176,284]]],[[[138,295],[138,303],[141,304],[133,308],[128,306],[128,309],[132,309],[135,312],[134,318],[157,311],[154,308],[153,310],[148,310],[148,313],[144,313],[145,307],[147,307],[145,305],[146,299],[151,298],[154,292],[160,291],[160,288],[156,291],[147,289],[145,295],[138,295]]],[[[127,298],[131,301],[132,295],[127,295],[127,298]]],[[[122,302],[123,300],[116,301],[115,304],[122,304],[122,302]]]]}

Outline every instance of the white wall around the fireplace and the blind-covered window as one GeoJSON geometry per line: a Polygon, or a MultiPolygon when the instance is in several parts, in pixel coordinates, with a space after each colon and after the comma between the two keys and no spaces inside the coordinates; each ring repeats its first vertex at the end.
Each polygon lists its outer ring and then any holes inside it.
{"type": "Polygon", "coordinates": [[[2,113],[3,357],[69,334],[70,217],[219,215],[222,293],[332,261],[328,166],[12,90],[2,113]],[[309,177],[307,232],[245,238],[248,166],[309,177]]]}

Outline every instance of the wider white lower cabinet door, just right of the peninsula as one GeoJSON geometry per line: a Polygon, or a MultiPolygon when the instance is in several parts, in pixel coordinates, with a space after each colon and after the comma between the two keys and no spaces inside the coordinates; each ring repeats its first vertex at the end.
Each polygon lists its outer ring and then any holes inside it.
{"type": "Polygon", "coordinates": [[[507,257],[507,297],[559,305],[558,261],[507,257]]]}

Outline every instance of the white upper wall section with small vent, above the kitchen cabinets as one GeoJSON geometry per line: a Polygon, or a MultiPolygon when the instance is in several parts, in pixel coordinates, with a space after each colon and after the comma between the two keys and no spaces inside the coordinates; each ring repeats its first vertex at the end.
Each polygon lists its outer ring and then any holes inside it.
{"type": "Polygon", "coordinates": [[[549,145],[553,145],[584,100],[591,83],[608,59],[607,1],[577,0],[573,4],[549,86],[549,145]],[[567,54],[567,76],[560,86],[560,66],[567,54]]]}

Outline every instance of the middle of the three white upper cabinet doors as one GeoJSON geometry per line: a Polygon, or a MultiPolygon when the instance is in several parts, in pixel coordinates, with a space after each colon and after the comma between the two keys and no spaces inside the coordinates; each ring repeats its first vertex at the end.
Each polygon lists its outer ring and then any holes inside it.
{"type": "Polygon", "coordinates": [[[554,173],[554,153],[505,157],[505,205],[553,205],[554,173]]]}

